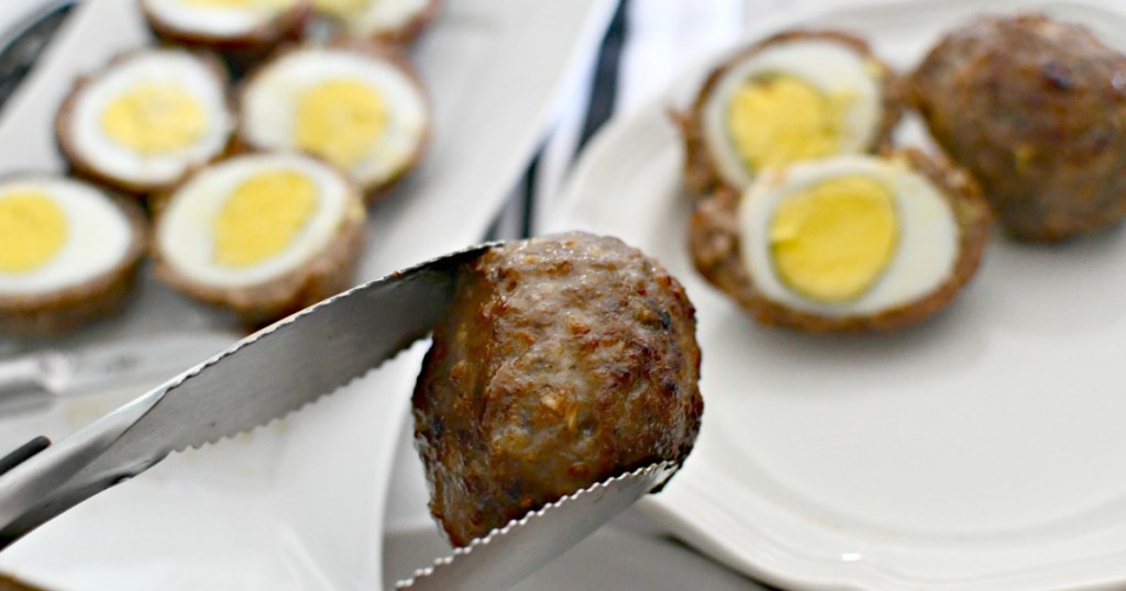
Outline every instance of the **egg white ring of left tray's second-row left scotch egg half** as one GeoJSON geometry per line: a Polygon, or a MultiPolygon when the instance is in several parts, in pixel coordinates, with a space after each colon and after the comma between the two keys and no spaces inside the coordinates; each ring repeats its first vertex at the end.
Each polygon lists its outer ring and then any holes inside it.
{"type": "Polygon", "coordinates": [[[131,183],[164,185],[179,179],[189,167],[221,153],[233,127],[226,89],[205,62],[180,50],[148,50],[129,55],[88,82],[75,98],[70,127],[63,133],[70,134],[78,155],[101,173],[131,183]],[[206,126],[196,142],[175,151],[143,154],[106,135],[102,113],[124,92],[144,82],[176,83],[198,101],[206,126]]]}

